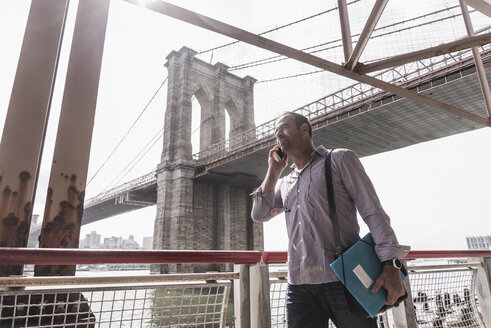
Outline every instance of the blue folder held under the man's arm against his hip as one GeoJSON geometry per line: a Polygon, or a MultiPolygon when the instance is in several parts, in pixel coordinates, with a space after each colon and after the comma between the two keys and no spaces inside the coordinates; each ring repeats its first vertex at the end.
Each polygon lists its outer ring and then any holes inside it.
{"type": "MultiPolygon", "coordinates": [[[[380,288],[375,294],[370,291],[383,270],[373,245],[372,235],[368,233],[343,253],[346,281],[343,279],[341,257],[331,263],[331,268],[339,280],[372,318],[382,309],[387,299],[387,291],[384,288],[380,288]]],[[[406,278],[402,272],[401,278],[406,278]]]]}

